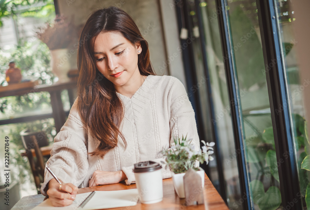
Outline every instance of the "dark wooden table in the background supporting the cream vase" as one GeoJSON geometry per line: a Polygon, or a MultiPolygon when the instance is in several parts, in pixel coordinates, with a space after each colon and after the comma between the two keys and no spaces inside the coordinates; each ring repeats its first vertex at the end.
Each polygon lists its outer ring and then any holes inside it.
{"type": "MultiPolygon", "coordinates": [[[[56,132],[60,131],[60,128],[65,123],[65,112],[63,108],[63,104],[61,101],[60,93],[62,90],[67,89],[69,94],[70,105],[73,105],[74,97],[73,97],[73,89],[77,86],[77,80],[73,79],[66,83],[55,83],[52,85],[36,85],[34,88],[17,88],[14,90],[8,90],[0,93],[1,97],[7,96],[22,96],[24,94],[33,93],[33,92],[42,92],[46,91],[50,93],[51,96],[51,106],[52,106],[52,116],[55,120],[55,128],[56,132]]],[[[33,120],[33,119],[32,119],[33,120]]],[[[5,121],[5,120],[2,120],[5,121]]],[[[6,120],[7,121],[7,120],[6,120]]],[[[15,123],[14,119],[9,119],[8,123],[15,123]]],[[[7,124],[8,124],[7,123],[7,124]]]]}

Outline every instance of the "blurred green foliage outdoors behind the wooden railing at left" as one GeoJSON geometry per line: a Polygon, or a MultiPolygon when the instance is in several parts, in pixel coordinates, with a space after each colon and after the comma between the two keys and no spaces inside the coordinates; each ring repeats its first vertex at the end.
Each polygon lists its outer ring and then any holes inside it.
{"type": "MultiPolygon", "coordinates": [[[[55,18],[54,2],[53,0],[0,0],[0,27],[2,19],[6,17],[12,17],[16,23],[24,17],[39,18],[43,25],[46,21],[55,18]]],[[[53,83],[55,76],[51,72],[50,51],[37,37],[20,39],[17,46],[6,46],[5,49],[0,49],[0,85],[7,85],[5,72],[12,60],[21,69],[24,80],[38,80],[39,84],[47,85],[53,83]]],[[[0,98],[0,119],[29,116],[30,112],[34,115],[39,112],[42,114],[42,110],[50,107],[48,92],[30,92],[23,96],[2,97],[0,98]]],[[[10,166],[14,166],[11,169],[15,171],[12,178],[20,183],[29,179],[34,182],[27,157],[20,155],[20,150],[24,149],[20,131],[25,128],[31,131],[44,131],[50,142],[56,135],[52,118],[0,126],[0,133],[10,138],[10,166]]]]}

